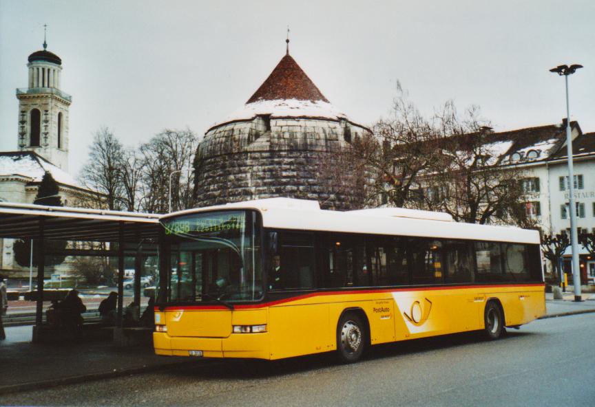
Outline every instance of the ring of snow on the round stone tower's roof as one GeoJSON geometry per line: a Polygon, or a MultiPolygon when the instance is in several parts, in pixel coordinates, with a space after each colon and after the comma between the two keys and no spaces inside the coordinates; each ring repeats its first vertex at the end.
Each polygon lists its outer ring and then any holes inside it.
{"type": "Polygon", "coordinates": [[[271,115],[271,118],[324,118],[331,120],[347,119],[345,113],[324,100],[277,99],[259,100],[244,104],[241,109],[231,113],[219,124],[238,120],[252,120],[257,115],[271,115]]]}

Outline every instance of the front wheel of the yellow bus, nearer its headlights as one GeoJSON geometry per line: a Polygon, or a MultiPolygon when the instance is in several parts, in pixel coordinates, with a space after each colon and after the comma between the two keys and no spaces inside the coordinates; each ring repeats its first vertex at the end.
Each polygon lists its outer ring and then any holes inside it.
{"type": "Polygon", "coordinates": [[[360,316],[344,314],[337,324],[337,357],[342,363],[357,362],[366,346],[366,325],[360,316]]]}

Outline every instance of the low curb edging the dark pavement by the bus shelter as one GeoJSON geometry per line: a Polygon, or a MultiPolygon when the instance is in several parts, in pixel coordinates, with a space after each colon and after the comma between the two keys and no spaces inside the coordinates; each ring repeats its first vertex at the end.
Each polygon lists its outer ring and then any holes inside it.
{"type": "MultiPolygon", "coordinates": [[[[94,380],[111,379],[114,377],[122,377],[127,375],[134,375],[137,373],[151,373],[156,371],[167,371],[176,367],[185,367],[196,363],[197,360],[184,360],[180,362],[173,362],[167,364],[159,364],[156,366],[138,366],[125,369],[114,369],[111,372],[104,373],[91,373],[88,375],[79,375],[71,377],[61,377],[59,379],[51,380],[40,380],[38,382],[27,382],[19,384],[9,384],[8,386],[0,386],[0,395],[8,393],[19,393],[21,391],[30,390],[42,390],[45,388],[51,388],[56,386],[62,386],[63,384],[77,384],[83,382],[92,382],[94,380]]],[[[214,363],[220,363],[213,361],[214,363]]],[[[212,363],[211,363],[212,364],[212,363]]],[[[211,365],[209,364],[209,365],[211,365]]]]}

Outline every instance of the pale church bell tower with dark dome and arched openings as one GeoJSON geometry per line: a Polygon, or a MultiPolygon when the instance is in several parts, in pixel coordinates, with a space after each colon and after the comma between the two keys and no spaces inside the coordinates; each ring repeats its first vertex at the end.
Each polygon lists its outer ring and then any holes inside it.
{"type": "Polygon", "coordinates": [[[72,97],[61,91],[62,60],[46,50],[29,56],[29,85],[17,89],[19,151],[34,151],[68,170],[68,107],[72,97]]]}

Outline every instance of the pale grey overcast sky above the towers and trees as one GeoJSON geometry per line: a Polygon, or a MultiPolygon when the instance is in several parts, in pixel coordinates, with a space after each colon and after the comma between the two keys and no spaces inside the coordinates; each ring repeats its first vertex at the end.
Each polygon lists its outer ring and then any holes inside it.
{"type": "Polygon", "coordinates": [[[62,58],[70,169],[108,126],[129,146],[165,128],[201,135],[253,94],[285,52],[355,122],[386,114],[399,80],[421,111],[452,99],[503,131],[560,122],[595,131],[595,1],[0,0],[0,151],[17,149],[27,57],[62,58]]]}

